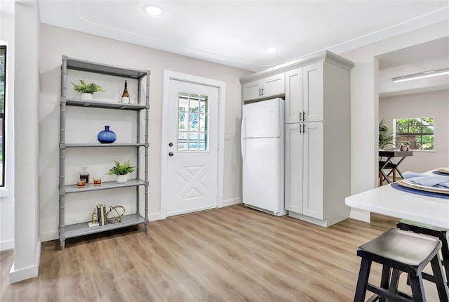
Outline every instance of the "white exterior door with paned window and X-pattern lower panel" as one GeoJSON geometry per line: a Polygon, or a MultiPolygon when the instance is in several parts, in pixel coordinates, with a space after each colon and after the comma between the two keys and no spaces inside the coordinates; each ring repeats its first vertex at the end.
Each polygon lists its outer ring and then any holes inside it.
{"type": "Polygon", "coordinates": [[[217,206],[219,88],[170,79],[162,161],[166,216],[217,206]]]}

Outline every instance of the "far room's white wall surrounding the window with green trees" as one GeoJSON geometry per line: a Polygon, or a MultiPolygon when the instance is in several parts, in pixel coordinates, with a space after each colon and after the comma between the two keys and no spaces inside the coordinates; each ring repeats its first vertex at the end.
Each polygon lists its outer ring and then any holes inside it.
{"type": "Polygon", "coordinates": [[[391,96],[379,100],[379,121],[390,126],[393,119],[434,117],[434,150],[415,151],[401,162],[401,171],[424,172],[449,166],[449,90],[391,96]]]}

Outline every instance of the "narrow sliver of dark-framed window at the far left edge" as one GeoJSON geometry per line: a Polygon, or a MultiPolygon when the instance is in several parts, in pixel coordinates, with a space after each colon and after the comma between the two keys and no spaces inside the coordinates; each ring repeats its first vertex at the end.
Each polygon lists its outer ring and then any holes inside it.
{"type": "Polygon", "coordinates": [[[6,90],[6,46],[0,46],[0,186],[5,185],[5,90],[6,90]]]}

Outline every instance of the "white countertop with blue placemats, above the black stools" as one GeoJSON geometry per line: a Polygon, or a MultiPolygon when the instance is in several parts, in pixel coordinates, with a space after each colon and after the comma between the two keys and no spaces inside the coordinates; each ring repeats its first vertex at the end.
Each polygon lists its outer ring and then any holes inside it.
{"type": "Polygon", "coordinates": [[[344,199],[347,206],[449,229],[449,199],[413,194],[383,185],[344,199]]]}

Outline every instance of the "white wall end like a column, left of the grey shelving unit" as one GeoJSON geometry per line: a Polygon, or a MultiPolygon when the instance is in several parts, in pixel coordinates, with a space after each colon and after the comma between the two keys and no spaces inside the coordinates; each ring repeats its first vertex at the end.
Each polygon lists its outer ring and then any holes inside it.
{"type": "Polygon", "coordinates": [[[36,1],[15,3],[15,190],[14,263],[11,283],[39,272],[39,9],[36,1]],[[20,150],[20,152],[18,152],[20,150]]]}

